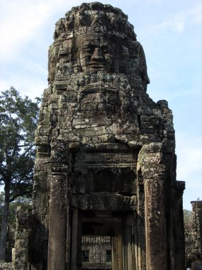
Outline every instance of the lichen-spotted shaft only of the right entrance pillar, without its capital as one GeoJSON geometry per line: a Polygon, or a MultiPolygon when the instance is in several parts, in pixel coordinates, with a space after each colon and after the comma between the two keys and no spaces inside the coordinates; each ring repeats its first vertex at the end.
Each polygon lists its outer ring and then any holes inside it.
{"type": "Polygon", "coordinates": [[[145,180],[145,227],[147,269],[167,269],[167,240],[162,178],[145,180]]]}

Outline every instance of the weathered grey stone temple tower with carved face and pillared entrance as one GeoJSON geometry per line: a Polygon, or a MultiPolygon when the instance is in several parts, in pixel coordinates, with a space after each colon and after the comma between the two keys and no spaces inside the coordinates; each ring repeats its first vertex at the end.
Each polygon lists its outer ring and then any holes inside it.
{"type": "Polygon", "coordinates": [[[184,269],[172,111],[147,95],[145,54],[128,17],[98,2],[72,8],[56,23],[48,72],[31,269],[184,269]]]}

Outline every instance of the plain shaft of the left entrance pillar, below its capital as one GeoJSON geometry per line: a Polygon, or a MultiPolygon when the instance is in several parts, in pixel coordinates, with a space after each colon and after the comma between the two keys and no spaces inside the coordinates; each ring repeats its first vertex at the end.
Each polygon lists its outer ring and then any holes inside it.
{"type": "Polygon", "coordinates": [[[48,270],[66,269],[67,174],[52,173],[50,184],[50,220],[48,270]]]}

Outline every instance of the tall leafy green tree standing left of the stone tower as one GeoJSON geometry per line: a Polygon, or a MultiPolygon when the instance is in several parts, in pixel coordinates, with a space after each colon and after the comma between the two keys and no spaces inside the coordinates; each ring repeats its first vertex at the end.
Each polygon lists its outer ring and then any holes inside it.
{"type": "Polygon", "coordinates": [[[0,185],[4,185],[0,261],[5,260],[9,203],[32,193],[39,102],[23,99],[13,87],[0,95],[0,185]]]}

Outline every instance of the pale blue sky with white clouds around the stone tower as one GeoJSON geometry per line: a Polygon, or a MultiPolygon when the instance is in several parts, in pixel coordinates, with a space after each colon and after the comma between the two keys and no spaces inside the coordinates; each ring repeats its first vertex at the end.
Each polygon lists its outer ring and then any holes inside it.
{"type": "MultiPolygon", "coordinates": [[[[0,0],[0,91],[41,97],[47,88],[47,50],[55,23],[77,0],[0,0]]],[[[84,1],[89,3],[91,1],[84,1]]],[[[202,1],[108,0],[128,15],[145,50],[157,102],[174,114],[176,179],[186,181],[184,209],[202,200],[202,1]]]]}

